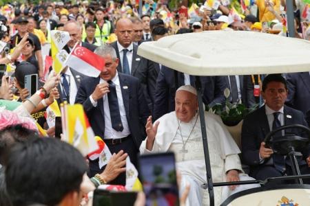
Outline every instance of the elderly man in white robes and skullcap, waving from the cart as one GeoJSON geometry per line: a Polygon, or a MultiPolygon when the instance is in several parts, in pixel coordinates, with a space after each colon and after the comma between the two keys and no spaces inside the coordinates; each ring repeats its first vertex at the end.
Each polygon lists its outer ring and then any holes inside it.
{"type": "MultiPolygon", "coordinates": [[[[187,205],[208,205],[209,194],[200,187],[207,179],[196,89],[189,85],[178,88],[175,102],[175,111],[163,115],[154,124],[152,117],[147,119],[147,138],[142,142],[140,152],[173,151],[176,167],[182,174],[180,192],[190,185],[187,205]]],[[[220,117],[205,112],[205,122],[213,181],[250,180],[242,172],[240,150],[220,117]]],[[[215,205],[220,205],[230,194],[258,186],[214,187],[215,205]]]]}

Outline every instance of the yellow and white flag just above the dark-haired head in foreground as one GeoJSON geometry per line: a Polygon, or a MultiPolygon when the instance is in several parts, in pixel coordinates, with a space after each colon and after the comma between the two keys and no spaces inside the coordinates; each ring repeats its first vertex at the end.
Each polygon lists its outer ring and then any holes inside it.
{"type": "Polygon", "coordinates": [[[94,132],[81,104],[61,106],[64,141],[72,144],[83,156],[98,150],[94,132]]]}

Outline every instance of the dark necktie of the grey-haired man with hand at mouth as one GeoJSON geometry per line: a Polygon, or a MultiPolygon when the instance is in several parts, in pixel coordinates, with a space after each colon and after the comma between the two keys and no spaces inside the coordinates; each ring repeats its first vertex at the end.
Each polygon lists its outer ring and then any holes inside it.
{"type": "Polygon", "coordinates": [[[109,101],[112,128],[118,132],[121,132],[123,131],[123,124],[121,120],[121,114],[119,113],[116,85],[113,84],[112,81],[108,81],[107,83],[110,84],[110,92],[107,93],[107,99],[109,101]]]}

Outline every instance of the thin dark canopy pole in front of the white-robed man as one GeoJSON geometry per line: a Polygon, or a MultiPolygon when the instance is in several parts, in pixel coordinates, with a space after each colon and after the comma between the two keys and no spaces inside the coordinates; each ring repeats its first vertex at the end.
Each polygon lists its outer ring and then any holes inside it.
{"type": "Polygon", "coordinates": [[[201,134],[203,137],[203,151],[205,152],[205,168],[207,171],[207,185],[203,184],[202,187],[204,189],[208,188],[209,198],[210,198],[210,206],[214,206],[214,190],[213,190],[213,182],[211,175],[211,165],[210,165],[210,157],[209,157],[209,148],[207,141],[207,130],[205,125],[205,109],[203,108],[203,98],[202,98],[202,89],[200,77],[196,76],[196,90],[198,96],[198,112],[200,117],[200,126],[201,126],[201,134]]]}

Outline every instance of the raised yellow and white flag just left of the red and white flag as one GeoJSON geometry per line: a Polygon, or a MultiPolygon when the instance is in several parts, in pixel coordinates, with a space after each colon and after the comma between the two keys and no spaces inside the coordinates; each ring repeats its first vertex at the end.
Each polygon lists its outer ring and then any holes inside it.
{"type": "Polygon", "coordinates": [[[70,41],[69,32],[62,32],[58,30],[52,30],[51,34],[51,52],[53,59],[53,69],[56,73],[60,73],[62,67],[59,66],[59,61],[56,59],[56,55],[65,47],[65,45],[70,41]]]}

